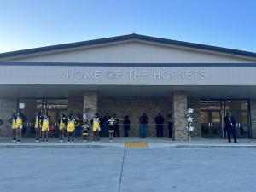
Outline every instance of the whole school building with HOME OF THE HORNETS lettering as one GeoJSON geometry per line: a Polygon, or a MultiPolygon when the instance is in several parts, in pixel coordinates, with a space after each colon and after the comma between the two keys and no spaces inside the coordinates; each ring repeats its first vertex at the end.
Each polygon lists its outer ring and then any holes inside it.
{"type": "MultiPolygon", "coordinates": [[[[0,54],[0,137],[11,135],[8,119],[28,118],[23,137],[33,137],[32,119],[47,108],[51,128],[60,113],[117,114],[131,119],[172,113],[174,140],[187,140],[187,108],[194,108],[193,137],[225,137],[224,115],[236,119],[237,137],[256,137],[256,53],[129,34],[0,54]]],[[[168,130],[165,123],[164,136],[168,130]]]]}

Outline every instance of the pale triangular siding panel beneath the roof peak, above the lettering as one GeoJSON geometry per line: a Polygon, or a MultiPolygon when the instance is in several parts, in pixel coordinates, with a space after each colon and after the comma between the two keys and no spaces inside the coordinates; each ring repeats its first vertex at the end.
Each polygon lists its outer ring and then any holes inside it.
{"type": "MultiPolygon", "coordinates": [[[[181,49],[139,41],[123,42],[84,49],[30,55],[9,59],[21,62],[100,62],[100,63],[226,63],[253,62],[233,55],[221,55],[196,49],[181,49]]],[[[256,60],[254,60],[255,62],[256,60]]]]}

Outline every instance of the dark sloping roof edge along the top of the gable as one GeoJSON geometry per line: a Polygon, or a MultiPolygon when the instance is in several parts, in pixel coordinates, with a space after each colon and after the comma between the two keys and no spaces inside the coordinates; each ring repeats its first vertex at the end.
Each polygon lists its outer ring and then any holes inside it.
{"type": "Polygon", "coordinates": [[[251,57],[253,59],[256,58],[256,53],[254,52],[243,51],[238,49],[227,49],[227,48],[211,46],[206,44],[194,44],[194,43],[177,41],[177,40],[172,40],[167,38],[155,38],[155,37],[132,33],[132,34],[116,36],[112,38],[99,38],[99,39],[81,41],[81,42],[70,43],[70,44],[57,44],[57,45],[34,48],[34,49],[23,49],[23,50],[11,51],[11,52],[0,54],[0,59],[14,57],[14,56],[44,53],[44,52],[47,53],[49,51],[55,51],[55,50],[57,51],[61,49],[72,49],[72,48],[86,47],[86,46],[98,45],[98,44],[110,44],[110,43],[116,43],[116,42],[125,41],[125,40],[132,40],[132,39],[147,41],[149,43],[151,42],[151,43],[157,43],[157,44],[174,45],[179,47],[201,49],[201,50],[213,51],[213,52],[229,54],[229,55],[245,56],[245,57],[251,57]]]}

